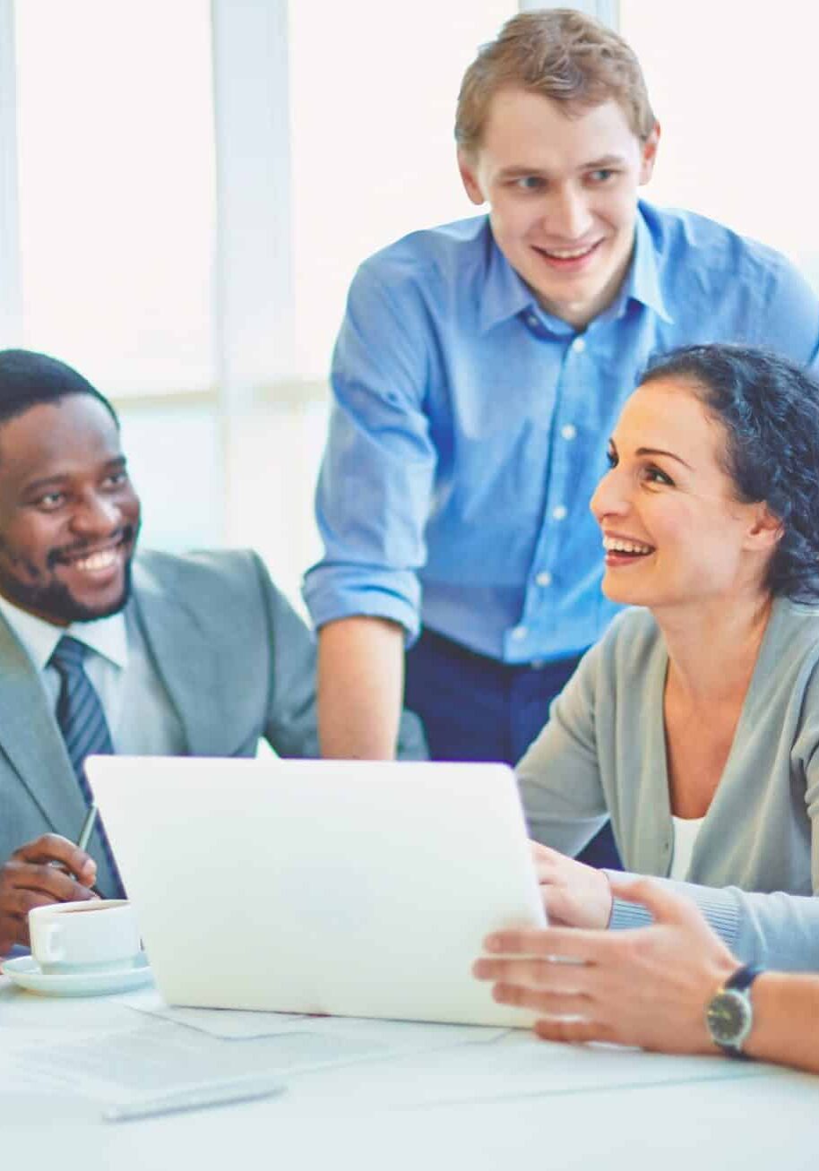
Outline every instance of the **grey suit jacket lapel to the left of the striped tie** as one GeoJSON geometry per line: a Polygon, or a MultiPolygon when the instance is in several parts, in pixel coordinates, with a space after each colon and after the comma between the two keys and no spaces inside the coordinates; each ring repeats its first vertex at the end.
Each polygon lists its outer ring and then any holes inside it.
{"type": "Polygon", "coordinates": [[[71,836],[86,802],[48,697],[28,655],[0,618],[0,742],[46,822],[71,836]]]}

